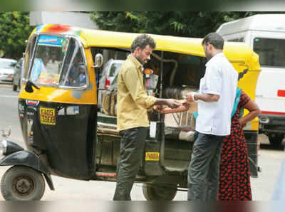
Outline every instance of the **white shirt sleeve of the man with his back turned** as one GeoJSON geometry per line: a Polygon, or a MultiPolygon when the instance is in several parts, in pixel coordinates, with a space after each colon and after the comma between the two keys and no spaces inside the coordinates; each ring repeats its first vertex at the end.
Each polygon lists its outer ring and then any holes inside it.
{"type": "Polygon", "coordinates": [[[222,92],[222,73],[215,65],[206,68],[205,85],[203,92],[207,94],[221,95],[222,92]]]}

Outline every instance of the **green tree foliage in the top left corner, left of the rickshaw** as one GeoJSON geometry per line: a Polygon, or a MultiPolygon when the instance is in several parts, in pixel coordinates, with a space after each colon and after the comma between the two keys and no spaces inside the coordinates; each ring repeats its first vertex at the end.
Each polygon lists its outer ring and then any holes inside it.
{"type": "Polygon", "coordinates": [[[32,29],[28,12],[0,12],[0,51],[4,58],[21,58],[32,29]]]}

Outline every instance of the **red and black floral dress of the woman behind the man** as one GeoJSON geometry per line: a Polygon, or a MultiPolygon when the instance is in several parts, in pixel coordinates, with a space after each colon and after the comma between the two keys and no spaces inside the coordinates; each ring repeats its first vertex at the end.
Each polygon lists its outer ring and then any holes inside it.
{"type": "Polygon", "coordinates": [[[239,115],[249,96],[242,91],[237,111],[232,117],[231,134],[224,138],[219,167],[219,200],[252,200],[247,142],[239,115]]]}

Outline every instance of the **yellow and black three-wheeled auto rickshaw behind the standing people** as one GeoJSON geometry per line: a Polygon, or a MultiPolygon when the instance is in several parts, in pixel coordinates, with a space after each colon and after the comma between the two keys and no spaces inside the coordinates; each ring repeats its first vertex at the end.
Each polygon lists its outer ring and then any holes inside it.
{"type": "MultiPolygon", "coordinates": [[[[105,64],[125,60],[136,36],[53,24],[33,30],[19,92],[26,148],[7,138],[1,141],[4,156],[0,165],[11,166],[1,178],[6,200],[41,199],[46,183],[55,189],[52,175],[84,181],[116,180],[120,152],[116,85],[105,89],[98,84],[105,64]]],[[[202,39],[152,37],[157,48],[145,65],[148,95],[181,99],[186,92],[198,90],[206,63],[202,39]]],[[[224,53],[243,75],[239,87],[254,100],[258,55],[244,43],[225,43],[224,53]]],[[[136,177],[147,200],[172,200],[177,190],[187,191],[195,139],[192,112],[160,114],[150,110],[145,154],[136,177]]],[[[257,177],[258,120],[247,124],[244,132],[252,176],[257,177]]]]}

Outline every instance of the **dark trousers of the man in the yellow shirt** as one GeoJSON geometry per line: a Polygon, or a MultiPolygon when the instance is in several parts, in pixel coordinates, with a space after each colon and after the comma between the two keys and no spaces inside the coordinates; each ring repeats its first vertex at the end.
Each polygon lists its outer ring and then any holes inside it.
{"type": "Polygon", "coordinates": [[[128,201],[135,176],[140,169],[147,127],[120,131],[120,159],[117,165],[117,185],[113,200],[128,201]]]}

